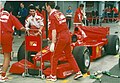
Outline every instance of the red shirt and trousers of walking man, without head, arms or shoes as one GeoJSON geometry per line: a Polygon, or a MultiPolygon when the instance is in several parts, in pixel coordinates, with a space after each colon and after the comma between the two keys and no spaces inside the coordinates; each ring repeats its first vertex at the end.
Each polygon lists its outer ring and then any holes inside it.
{"type": "Polygon", "coordinates": [[[65,52],[65,57],[67,58],[70,65],[73,65],[73,70],[75,72],[80,71],[71,53],[71,36],[66,23],[66,18],[58,10],[53,9],[49,14],[48,29],[50,39],[52,39],[52,30],[55,29],[57,32],[55,51],[51,57],[51,75],[55,76],[57,74],[58,60],[62,56],[63,51],[65,52]]]}

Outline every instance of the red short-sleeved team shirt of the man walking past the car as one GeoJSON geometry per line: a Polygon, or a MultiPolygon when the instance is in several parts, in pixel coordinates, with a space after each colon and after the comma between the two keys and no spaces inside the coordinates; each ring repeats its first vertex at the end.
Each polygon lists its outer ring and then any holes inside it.
{"type": "Polygon", "coordinates": [[[56,29],[57,34],[59,34],[61,31],[68,30],[66,18],[58,10],[53,9],[48,18],[48,30],[50,39],[52,39],[52,30],[56,29]]]}

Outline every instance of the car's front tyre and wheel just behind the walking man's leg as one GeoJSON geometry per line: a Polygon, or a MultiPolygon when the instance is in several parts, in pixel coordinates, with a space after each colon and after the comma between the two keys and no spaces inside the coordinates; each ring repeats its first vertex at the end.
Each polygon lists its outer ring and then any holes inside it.
{"type": "Polygon", "coordinates": [[[86,73],[90,66],[90,52],[85,46],[76,46],[73,49],[74,58],[82,73],[86,73]]]}

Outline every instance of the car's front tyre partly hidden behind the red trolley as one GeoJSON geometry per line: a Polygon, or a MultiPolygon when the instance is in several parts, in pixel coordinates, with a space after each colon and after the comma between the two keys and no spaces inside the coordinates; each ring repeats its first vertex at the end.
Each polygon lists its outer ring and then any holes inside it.
{"type": "MultiPolygon", "coordinates": [[[[48,40],[44,39],[42,42],[42,48],[48,46],[48,40]]],[[[35,55],[36,52],[28,52],[28,61],[32,62],[32,57],[31,55],[35,55]]],[[[18,53],[17,53],[17,60],[20,61],[22,59],[25,59],[25,41],[21,44],[20,48],[18,49],[18,53]]]]}

